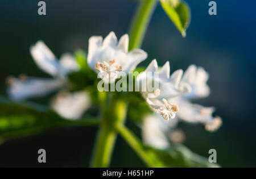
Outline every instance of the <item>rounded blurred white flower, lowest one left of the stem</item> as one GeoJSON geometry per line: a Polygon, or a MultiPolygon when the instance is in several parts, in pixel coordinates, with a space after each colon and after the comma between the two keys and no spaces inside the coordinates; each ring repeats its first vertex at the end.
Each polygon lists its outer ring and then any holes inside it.
{"type": "Polygon", "coordinates": [[[63,118],[69,120],[79,119],[90,107],[90,96],[86,91],[75,93],[60,91],[52,100],[51,107],[63,118]]]}

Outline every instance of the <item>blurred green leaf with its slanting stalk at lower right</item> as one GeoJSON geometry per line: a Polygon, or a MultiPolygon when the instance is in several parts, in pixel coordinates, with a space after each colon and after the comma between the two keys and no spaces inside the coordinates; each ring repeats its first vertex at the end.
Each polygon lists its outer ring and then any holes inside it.
{"type": "Polygon", "coordinates": [[[119,134],[127,141],[141,159],[150,167],[218,167],[208,159],[191,152],[184,145],[172,145],[168,149],[156,149],[144,145],[125,126],[117,126],[119,134]]]}

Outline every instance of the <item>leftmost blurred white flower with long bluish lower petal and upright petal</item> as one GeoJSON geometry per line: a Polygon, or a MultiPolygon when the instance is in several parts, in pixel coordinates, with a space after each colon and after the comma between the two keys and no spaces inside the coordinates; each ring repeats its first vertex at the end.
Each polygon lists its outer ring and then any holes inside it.
{"type": "Polygon", "coordinates": [[[24,76],[21,78],[8,78],[7,84],[9,84],[9,88],[7,93],[11,99],[16,101],[40,97],[67,85],[67,74],[78,69],[78,65],[71,55],[65,54],[60,60],[57,60],[43,41],[38,41],[33,45],[30,52],[38,67],[53,78],[44,79],[24,76]]]}

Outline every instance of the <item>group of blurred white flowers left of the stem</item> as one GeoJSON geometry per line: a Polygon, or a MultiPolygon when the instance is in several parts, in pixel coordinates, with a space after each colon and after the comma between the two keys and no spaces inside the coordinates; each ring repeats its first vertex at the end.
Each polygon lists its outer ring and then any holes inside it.
{"type": "Polygon", "coordinates": [[[68,73],[78,70],[78,65],[72,55],[64,54],[57,60],[51,50],[38,41],[30,49],[30,53],[38,67],[53,78],[35,78],[24,75],[19,78],[7,78],[9,88],[7,93],[14,101],[23,101],[32,97],[42,97],[61,89],[51,102],[51,107],[66,119],[79,119],[89,108],[89,94],[86,91],[69,93],[65,87],[69,85],[68,73]],[[65,94],[65,95],[64,95],[65,94]]]}

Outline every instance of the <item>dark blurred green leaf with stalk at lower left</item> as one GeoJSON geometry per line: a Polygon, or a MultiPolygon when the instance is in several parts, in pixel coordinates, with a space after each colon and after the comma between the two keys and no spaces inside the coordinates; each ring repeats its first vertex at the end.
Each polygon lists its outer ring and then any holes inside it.
{"type": "Polygon", "coordinates": [[[66,120],[47,107],[34,103],[14,103],[0,100],[0,140],[20,138],[61,126],[97,124],[94,118],[66,120]]]}

